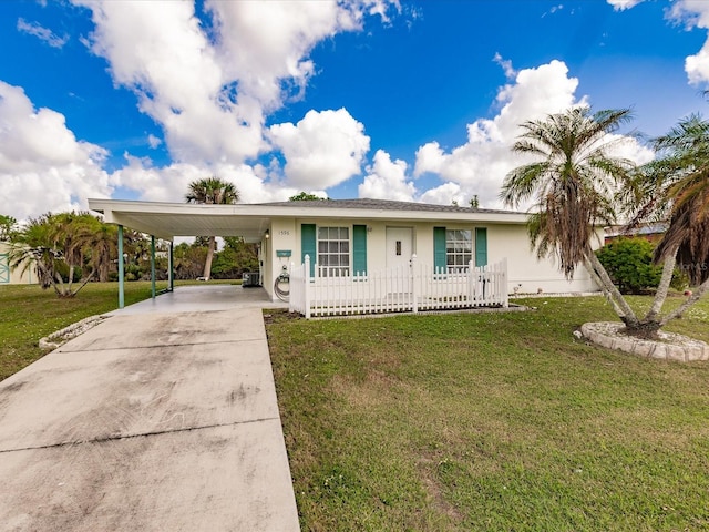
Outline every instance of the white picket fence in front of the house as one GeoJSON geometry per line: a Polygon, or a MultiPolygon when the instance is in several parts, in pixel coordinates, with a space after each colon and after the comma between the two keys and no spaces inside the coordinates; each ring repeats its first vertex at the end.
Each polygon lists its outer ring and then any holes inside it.
{"type": "Polygon", "coordinates": [[[291,313],[311,316],[343,316],[379,313],[507,306],[507,262],[451,272],[419,264],[381,272],[331,276],[310,257],[290,265],[291,313]]]}

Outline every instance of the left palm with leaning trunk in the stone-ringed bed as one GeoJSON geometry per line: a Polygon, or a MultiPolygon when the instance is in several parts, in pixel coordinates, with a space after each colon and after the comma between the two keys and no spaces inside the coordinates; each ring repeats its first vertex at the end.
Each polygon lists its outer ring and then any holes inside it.
{"type": "Polygon", "coordinates": [[[592,246],[597,228],[615,221],[619,185],[635,175],[631,161],[612,154],[621,137],[610,134],[630,120],[627,109],[579,106],[525,122],[512,150],[536,161],[507,174],[501,197],[513,207],[532,201],[528,231],[537,256],[555,257],[568,279],[583,264],[628,329],[637,329],[640,321],[592,246]]]}

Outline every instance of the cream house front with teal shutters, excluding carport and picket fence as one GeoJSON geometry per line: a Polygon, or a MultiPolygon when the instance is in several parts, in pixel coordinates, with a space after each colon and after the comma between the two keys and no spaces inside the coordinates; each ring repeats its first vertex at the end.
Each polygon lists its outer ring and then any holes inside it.
{"type": "MultiPolygon", "coordinates": [[[[524,213],[377,200],[298,203],[304,205],[297,213],[271,219],[269,238],[261,241],[264,286],[271,296],[284,266],[301,264],[306,255],[315,265],[330,269],[347,260],[342,268],[350,274],[408,265],[412,255],[433,268],[464,267],[469,260],[485,266],[506,259],[508,294],[598,289],[583,268],[568,282],[551,260],[537,260],[524,213]],[[323,253],[326,244],[328,252],[323,253]],[[330,249],[337,246],[347,250],[332,256],[330,249]],[[288,252],[290,258],[285,256],[288,252]],[[329,264],[332,259],[335,266],[329,264]]],[[[288,208],[294,204],[268,205],[288,208]]],[[[599,237],[598,245],[602,243],[599,237]]]]}

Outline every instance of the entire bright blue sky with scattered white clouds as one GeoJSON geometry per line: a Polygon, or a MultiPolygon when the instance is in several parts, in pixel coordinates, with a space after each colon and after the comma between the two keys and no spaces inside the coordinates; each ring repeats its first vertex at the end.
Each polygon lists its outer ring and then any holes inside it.
{"type": "MultiPolygon", "coordinates": [[[[0,213],[299,192],[499,208],[518,124],[705,113],[709,2],[0,2],[0,213]],[[707,50],[705,50],[707,47],[707,50]]],[[[653,154],[629,139],[625,154],[653,154]]]]}

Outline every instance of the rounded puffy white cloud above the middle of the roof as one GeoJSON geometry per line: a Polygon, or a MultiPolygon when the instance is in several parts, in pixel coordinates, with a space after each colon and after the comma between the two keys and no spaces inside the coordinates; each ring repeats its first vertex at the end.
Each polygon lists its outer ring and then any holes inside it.
{"type": "Polygon", "coordinates": [[[346,109],[308,111],[296,125],[273,125],[268,134],[286,157],[286,181],[296,188],[329,188],[361,172],[369,151],[364,126],[346,109]]]}

